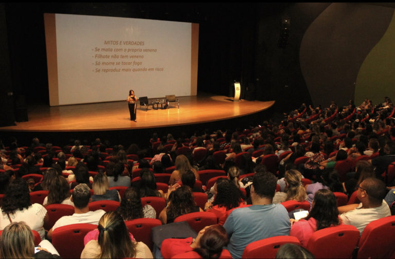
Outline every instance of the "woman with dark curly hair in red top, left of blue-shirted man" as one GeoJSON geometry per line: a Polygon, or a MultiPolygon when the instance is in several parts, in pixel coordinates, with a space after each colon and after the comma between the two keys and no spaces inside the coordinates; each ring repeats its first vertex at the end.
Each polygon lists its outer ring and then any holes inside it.
{"type": "Polygon", "coordinates": [[[213,202],[207,202],[205,211],[216,213],[218,218],[223,217],[232,208],[245,205],[245,196],[230,180],[219,178],[216,181],[213,202]]]}

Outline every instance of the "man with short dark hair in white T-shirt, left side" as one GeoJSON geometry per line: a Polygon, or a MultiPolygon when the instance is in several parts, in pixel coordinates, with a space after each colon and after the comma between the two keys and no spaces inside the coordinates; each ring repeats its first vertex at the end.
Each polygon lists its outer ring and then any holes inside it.
{"type": "Polygon", "coordinates": [[[73,190],[73,195],[71,195],[71,202],[74,203],[74,214],[59,218],[55,225],[48,231],[48,238],[52,239],[52,232],[59,227],[78,223],[98,225],[105,211],[101,209],[89,211],[88,204],[91,201],[91,189],[86,184],[77,185],[73,190]]]}

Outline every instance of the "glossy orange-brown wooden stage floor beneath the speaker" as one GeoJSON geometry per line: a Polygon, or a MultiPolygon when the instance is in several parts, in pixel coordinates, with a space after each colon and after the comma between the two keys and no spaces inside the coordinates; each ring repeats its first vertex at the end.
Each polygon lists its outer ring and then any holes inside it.
{"type": "MultiPolygon", "coordinates": [[[[180,126],[221,121],[266,110],[274,101],[234,101],[221,95],[198,94],[178,97],[176,105],[169,108],[148,111],[137,102],[137,122],[130,121],[126,101],[82,105],[53,106],[36,105],[28,107],[28,122],[16,126],[0,127],[1,131],[101,131],[145,129],[180,126]]],[[[150,102],[152,100],[150,99],[150,102]]]]}

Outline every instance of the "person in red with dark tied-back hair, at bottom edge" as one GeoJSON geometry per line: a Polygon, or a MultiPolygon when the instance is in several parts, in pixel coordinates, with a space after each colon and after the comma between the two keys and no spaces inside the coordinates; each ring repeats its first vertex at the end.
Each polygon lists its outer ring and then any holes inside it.
{"type": "Polygon", "coordinates": [[[193,240],[192,237],[187,238],[167,238],[161,244],[160,252],[163,258],[171,258],[177,254],[194,251],[196,257],[202,258],[219,258],[228,251],[222,248],[228,244],[229,240],[226,230],[221,225],[211,225],[203,228],[193,240]]]}

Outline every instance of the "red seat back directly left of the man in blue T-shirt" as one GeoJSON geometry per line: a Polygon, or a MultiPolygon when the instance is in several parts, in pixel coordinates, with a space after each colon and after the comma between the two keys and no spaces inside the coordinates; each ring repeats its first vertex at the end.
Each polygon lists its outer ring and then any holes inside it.
{"type": "Polygon", "coordinates": [[[174,222],[186,221],[198,233],[204,227],[217,224],[217,215],[213,212],[192,212],[174,218],[174,222]]]}

